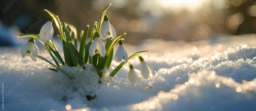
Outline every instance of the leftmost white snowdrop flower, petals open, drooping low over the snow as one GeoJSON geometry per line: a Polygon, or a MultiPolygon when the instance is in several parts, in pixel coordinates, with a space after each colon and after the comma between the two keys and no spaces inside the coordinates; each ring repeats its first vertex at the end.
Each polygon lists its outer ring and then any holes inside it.
{"type": "Polygon", "coordinates": [[[26,43],[20,50],[21,56],[24,58],[27,56],[30,56],[30,58],[34,61],[37,61],[37,55],[39,53],[39,49],[35,44],[34,38],[31,37],[28,40],[28,43],[26,43]]]}

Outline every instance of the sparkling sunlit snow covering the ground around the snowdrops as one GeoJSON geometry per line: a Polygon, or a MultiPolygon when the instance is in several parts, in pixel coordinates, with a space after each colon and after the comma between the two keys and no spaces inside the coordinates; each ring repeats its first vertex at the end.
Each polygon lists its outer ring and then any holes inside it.
{"type": "MultiPolygon", "coordinates": [[[[191,41],[192,46],[184,41],[157,39],[140,46],[124,44],[130,53],[151,51],[142,55],[156,70],[148,80],[140,75],[138,57],[130,60],[139,75],[137,85],[127,80],[129,64],[98,84],[97,73],[90,65],[86,66],[88,70],[63,66],[76,77],[69,80],[60,72],[50,71],[52,66],[45,61],[22,58],[20,47],[2,47],[4,110],[255,110],[255,38],[218,36],[191,41]],[[97,97],[87,101],[83,92],[88,91],[97,97]]],[[[43,50],[40,55],[50,58],[43,50]]],[[[113,61],[110,71],[117,65],[113,61]]]]}

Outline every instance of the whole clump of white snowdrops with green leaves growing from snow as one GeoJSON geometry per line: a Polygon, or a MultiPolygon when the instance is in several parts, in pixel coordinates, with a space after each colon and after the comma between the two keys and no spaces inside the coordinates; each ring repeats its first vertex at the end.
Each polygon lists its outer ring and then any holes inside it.
{"type": "MultiPolygon", "coordinates": [[[[28,42],[20,50],[22,57],[24,58],[26,56],[30,56],[31,59],[34,61],[37,61],[37,58],[40,58],[55,67],[49,68],[50,70],[61,71],[70,79],[74,77],[67,71],[59,68],[60,65],[58,61],[60,61],[62,65],[68,65],[69,67],[82,66],[84,70],[86,70],[84,64],[92,64],[96,67],[96,69],[98,69],[99,76],[103,77],[103,72],[101,70],[103,70],[104,68],[109,69],[113,59],[114,45],[116,45],[116,43],[119,43],[119,47],[115,53],[115,60],[116,62],[121,63],[109,74],[110,76],[113,77],[127,62],[130,63],[129,60],[135,56],[139,56],[139,60],[141,61],[140,72],[142,77],[148,79],[150,73],[155,76],[155,70],[152,65],[144,61],[144,59],[140,56],[140,54],[150,51],[137,52],[128,57],[127,51],[123,46],[124,39],[121,38],[123,35],[126,35],[126,33],[116,36],[115,29],[108,21],[106,11],[110,7],[110,5],[111,4],[109,4],[101,13],[99,23],[94,22],[91,30],[91,35],[89,35],[90,41],[88,43],[86,43],[86,39],[88,36],[89,25],[86,26],[84,31],[81,31],[82,38],[80,47],[78,47],[77,44],[78,32],[76,27],[67,22],[60,22],[58,16],[56,16],[49,10],[45,10],[50,14],[51,17],[49,18],[48,22],[46,22],[42,26],[39,34],[23,34],[18,36],[30,37],[28,42]],[[53,21],[59,29],[60,36],[57,36],[61,39],[63,44],[64,59],[60,56],[56,45],[52,40],[52,37],[54,35],[54,29],[52,26],[53,21]],[[70,31],[68,30],[67,26],[70,28],[70,31]],[[74,37],[74,41],[72,41],[72,35],[74,37]],[[51,55],[55,64],[39,55],[39,49],[34,39],[38,39],[44,45],[45,51],[51,55]],[[101,40],[105,39],[108,40],[104,45],[101,40]]],[[[130,71],[127,76],[128,81],[132,85],[138,83],[138,75],[134,71],[133,65],[131,63],[130,71]]]]}

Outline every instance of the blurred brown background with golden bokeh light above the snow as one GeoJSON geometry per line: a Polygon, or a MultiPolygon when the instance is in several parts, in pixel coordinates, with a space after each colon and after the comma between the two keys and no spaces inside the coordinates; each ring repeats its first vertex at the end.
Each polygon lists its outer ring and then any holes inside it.
{"type": "MultiPolygon", "coordinates": [[[[23,46],[27,40],[18,35],[39,34],[50,17],[44,9],[74,25],[78,34],[86,25],[91,30],[110,3],[109,22],[117,35],[127,33],[124,43],[132,45],[153,39],[190,42],[256,30],[255,0],[5,0],[0,2],[0,45],[23,46]]],[[[57,39],[59,32],[53,26],[57,39]]]]}

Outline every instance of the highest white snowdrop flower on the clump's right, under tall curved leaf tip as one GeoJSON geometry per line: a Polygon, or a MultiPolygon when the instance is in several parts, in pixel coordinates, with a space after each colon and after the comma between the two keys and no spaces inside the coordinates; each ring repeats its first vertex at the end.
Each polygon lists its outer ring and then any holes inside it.
{"type": "Polygon", "coordinates": [[[116,38],[116,33],[114,27],[109,23],[109,18],[107,15],[104,16],[104,23],[100,30],[100,37],[102,40],[105,40],[109,37],[113,39],[116,38]]]}

